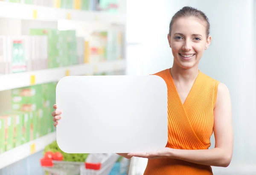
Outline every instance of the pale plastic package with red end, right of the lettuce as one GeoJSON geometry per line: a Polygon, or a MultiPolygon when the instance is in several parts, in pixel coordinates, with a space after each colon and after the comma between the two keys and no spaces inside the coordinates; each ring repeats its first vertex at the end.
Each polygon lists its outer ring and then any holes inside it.
{"type": "Polygon", "coordinates": [[[117,154],[90,154],[80,166],[80,175],[109,175],[118,158],[117,154]]]}

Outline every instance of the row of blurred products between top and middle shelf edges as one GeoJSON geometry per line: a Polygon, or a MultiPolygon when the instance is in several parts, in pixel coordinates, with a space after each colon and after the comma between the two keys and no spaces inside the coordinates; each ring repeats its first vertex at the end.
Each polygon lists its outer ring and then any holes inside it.
{"type": "Polygon", "coordinates": [[[31,29],[28,36],[0,36],[0,74],[35,71],[124,57],[122,32],[92,32],[87,39],[76,31],[31,29]]]}

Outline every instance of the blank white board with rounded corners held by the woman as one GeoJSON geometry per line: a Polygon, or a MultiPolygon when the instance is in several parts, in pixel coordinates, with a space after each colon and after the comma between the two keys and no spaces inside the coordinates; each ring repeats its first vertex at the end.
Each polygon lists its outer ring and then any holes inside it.
{"type": "Polygon", "coordinates": [[[57,143],[67,153],[148,152],[168,141],[167,86],[157,75],[67,76],[56,104],[57,143]]]}

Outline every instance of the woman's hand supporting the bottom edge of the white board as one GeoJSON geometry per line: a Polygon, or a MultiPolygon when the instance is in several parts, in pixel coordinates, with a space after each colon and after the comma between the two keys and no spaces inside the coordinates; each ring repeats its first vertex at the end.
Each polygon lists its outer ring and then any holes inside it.
{"type": "Polygon", "coordinates": [[[148,159],[171,158],[172,148],[165,147],[153,152],[129,153],[128,156],[148,159]]]}

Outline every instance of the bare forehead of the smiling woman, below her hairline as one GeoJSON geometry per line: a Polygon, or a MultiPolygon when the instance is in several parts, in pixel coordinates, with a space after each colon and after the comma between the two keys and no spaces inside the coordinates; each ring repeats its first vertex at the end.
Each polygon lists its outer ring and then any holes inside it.
{"type": "Polygon", "coordinates": [[[182,33],[184,35],[201,34],[206,35],[204,21],[196,17],[181,17],[175,20],[172,26],[172,34],[182,33]]]}

